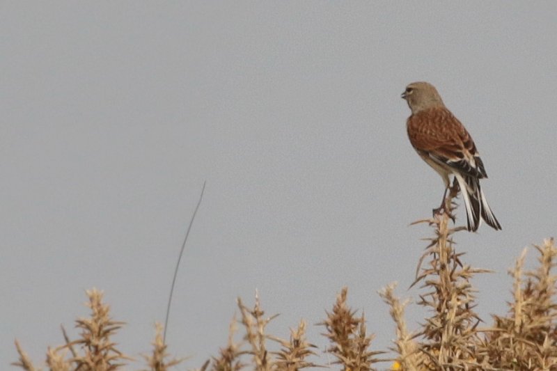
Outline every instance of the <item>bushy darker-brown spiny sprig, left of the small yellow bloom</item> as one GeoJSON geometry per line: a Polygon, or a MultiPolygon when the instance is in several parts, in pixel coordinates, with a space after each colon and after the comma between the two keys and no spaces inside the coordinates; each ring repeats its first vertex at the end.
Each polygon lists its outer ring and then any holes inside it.
{"type": "Polygon", "coordinates": [[[320,323],[327,330],[323,335],[332,343],[327,352],[337,358],[334,363],[343,365],[343,371],[375,370],[371,367],[379,362],[375,356],[384,352],[368,350],[373,336],[366,334],[364,315],[356,317],[356,311],[347,306],[347,291],[347,287],[343,287],[332,312],[327,312],[327,318],[320,323]]]}

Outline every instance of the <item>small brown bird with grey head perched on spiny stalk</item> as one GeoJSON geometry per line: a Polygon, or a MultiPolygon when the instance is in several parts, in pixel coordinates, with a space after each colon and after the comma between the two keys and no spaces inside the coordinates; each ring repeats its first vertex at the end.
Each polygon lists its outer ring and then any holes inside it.
{"type": "Polygon", "coordinates": [[[447,212],[446,194],[453,175],[453,184],[458,184],[464,199],[467,229],[475,232],[483,220],[495,230],[501,230],[480,187],[480,180],[487,178],[487,173],[476,144],[464,125],[447,109],[437,89],[425,81],[413,82],[401,97],[411,111],[407,119],[411,145],[445,183],[441,206],[433,213],[447,212]]]}

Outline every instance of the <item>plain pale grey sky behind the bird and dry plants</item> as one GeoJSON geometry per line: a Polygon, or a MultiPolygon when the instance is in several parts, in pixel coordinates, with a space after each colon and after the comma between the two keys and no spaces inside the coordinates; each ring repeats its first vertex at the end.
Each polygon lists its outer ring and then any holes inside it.
{"type": "MultiPolygon", "coordinates": [[[[414,152],[411,81],[437,86],[483,157],[503,230],[457,248],[496,273],[478,312],[503,314],[508,267],[556,233],[555,1],[2,1],[0,364],[36,361],[105,291],[116,340],[150,349],[176,284],[170,350],[200,366],[235,298],[313,326],[343,285],[374,349],[394,337],[377,290],[407,290],[441,178],[414,152]]],[[[465,223],[464,209],[457,222],[465,223]]],[[[411,329],[423,310],[408,308],[411,329]]],[[[324,358],[323,358],[324,359],[324,358]]],[[[139,368],[139,363],[134,365],[139,368]]]]}

